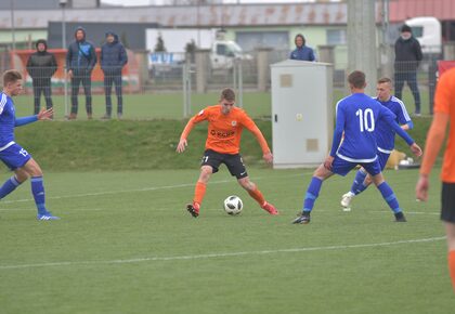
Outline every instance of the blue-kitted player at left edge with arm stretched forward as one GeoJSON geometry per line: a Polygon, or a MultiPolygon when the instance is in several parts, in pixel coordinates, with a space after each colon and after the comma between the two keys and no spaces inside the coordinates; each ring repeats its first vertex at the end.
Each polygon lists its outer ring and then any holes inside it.
{"type": "Polygon", "coordinates": [[[49,120],[52,118],[53,109],[41,109],[38,115],[16,119],[12,97],[18,95],[22,89],[21,73],[14,69],[6,70],[3,74],[3,91],[0,93],[0,160],[14,171],[14,175],[0,187],[0,199],[30,178],[31,194],[38,209],[37,219],[57,220],[58,218],[52,215],[46,208],[41,168],[27,151],[14,142],[15,127],[37,120],[49,120]]]}

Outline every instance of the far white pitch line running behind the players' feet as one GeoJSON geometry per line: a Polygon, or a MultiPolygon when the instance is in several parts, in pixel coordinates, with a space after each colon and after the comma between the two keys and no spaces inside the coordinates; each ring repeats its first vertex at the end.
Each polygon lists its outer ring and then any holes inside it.
{"type": "MultiPolygon", "coordinates": [[[[298,174],[290,174],[285,175],[283,178],[291,178],[291,176],[300,176],[303,174],[308,174],[310,172],[301,172],[298,174]]],[[[312,172],[311,172],[312,173],[312,172]]],[[[257,176],[253,179],[253,181],[259,180],[270,180],[269,176],[257,176]]],[[[276,179],[276,178],[274,178],[276,179]]],[[[233,180],[220,180],[220,181],[211,181],[209,184],[223,184],[223,183],[231,183],[234,182],[233,180]]],[[[101,196],[101,195],[113,195],[113,194],[119,194],[119,193],[134,193],[134,192],[151,192],[151,191],[159,191],[159,189],[172,189],[172,188],[179,188],[179,187],[193,187],[195,185],[195,182],[193,183],[184,183],[184,184],[176,184],[176,185],[162,185],[162,186],[151,186],[151,187],[143,187],[143,188],[132,188],[132,189],[120,189],[120,191],[103,191],[103,192],[96,192],[96,193],[84,193],[84,194],[74,194],[74,195],[62,195],[62,196],[51,196],[47,197],[48,199],[62,199],[62,198],[77,198],[77,197],[88,197],[88,196],[101,196]]],[[[23,202],[23,201],[31,201],[32,198],[23,198],[23,199],[13,199],[13,200],[2,200],[2,204],[13,204],[13,202],[23,202]]]]}

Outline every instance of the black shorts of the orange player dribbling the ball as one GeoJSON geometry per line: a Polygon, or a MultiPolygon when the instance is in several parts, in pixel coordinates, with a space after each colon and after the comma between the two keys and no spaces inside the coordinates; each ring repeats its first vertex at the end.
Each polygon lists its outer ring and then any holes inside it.
{"type": "Polygon", "coordinates": [[[239,154],[220,154],[211,149],[204,152],[200,166],[210,166],[213,169],[213,173],[216,173],[218,172],[221,163],[226,165],[229,172],[237,179],[248,176],[244,161],[242,160],[242,156],[239,154]]]}

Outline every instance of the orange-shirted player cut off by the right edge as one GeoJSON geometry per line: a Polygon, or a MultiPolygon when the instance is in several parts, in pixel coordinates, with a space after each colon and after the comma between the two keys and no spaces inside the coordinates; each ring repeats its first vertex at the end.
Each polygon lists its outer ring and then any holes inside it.
{"type": "Polygon", "coordinates": [[[427,147],[420,167],[420,178],[416,185],[417,199],[428,199],[428,175],[441,149],[448,122],[448,142],[441,171],[441,220],[445,224],[448,271],[455,289],[455,68],[444,73],[438,82],[434,95],[434,117],[427,134],[427,147]]]}

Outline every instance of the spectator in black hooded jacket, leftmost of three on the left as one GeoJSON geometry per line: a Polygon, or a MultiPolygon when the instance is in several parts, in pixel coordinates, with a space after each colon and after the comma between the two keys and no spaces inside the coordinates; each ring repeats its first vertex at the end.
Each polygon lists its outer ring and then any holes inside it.
{"type": "Polygon", "coordinates": [[[34,114],[38,115],[41,107],[41,92],[46,99],[46,107],[52,108],[51,77],[57,68],[55,55],[48,52],[48,43],[39,39],[36,43],[37,51],[27,61],[27,71],[34,86],[34,114]]]}

